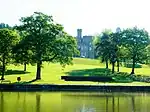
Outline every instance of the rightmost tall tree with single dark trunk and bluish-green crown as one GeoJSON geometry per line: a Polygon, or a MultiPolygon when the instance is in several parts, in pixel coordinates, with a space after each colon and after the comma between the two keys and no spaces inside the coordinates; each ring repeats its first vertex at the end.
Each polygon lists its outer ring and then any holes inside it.
{"type": "Polygon", "coordinates": [[[123,31],[123,39],[124,46],[129,51],[129,58],[132,59],[133,63],[131,74],[135,74],[135,64],[145,57],[145,50],[149,43],[148,32],[137,27],[128,28],[123,31]]]}

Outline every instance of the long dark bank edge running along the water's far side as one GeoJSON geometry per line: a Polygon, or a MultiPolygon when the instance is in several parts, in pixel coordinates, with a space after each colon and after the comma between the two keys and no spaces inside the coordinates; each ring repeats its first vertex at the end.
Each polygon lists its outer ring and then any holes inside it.
{"type": "Polygon", "coordinates": [[[0,84],[0,91],[97,91],[97,92],[150,92],[150,86],[123,85],[55,85],[55,84],[0,84]]]}

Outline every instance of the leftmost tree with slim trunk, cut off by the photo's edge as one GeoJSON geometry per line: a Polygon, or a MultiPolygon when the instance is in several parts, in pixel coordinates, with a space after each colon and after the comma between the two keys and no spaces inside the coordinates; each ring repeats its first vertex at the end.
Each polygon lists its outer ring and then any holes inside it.
{"type": "Polygon", "coordinates": [[[6,65],[12,59],[12,48],[18,43],[19,35],[14,30],[0,29],[0,62],[2,63],[2,77],[4,80],[4,74],[6,65]]]}

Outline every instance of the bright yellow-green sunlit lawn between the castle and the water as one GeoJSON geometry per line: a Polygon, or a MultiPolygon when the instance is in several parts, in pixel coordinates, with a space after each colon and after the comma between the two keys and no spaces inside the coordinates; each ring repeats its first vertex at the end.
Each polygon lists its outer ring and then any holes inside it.
{"type": "MultiPolygon", "coordinates": [[[[100,63],[99,60],[92,60],[92,59],[83,59],[83,58],[74,58],[73,60],[74,65],[69,65],[62,69],[59,64],[48,64],[44,63],[42,68],[42,80],[31,82],[33,84],[90,84],[90,85],[97,85],[97,84],[104,84],[104,83],[97,83],[97,82],[65,82],[60,79],[63,75],[93,75],[99,74],[104,71],[105,64],[100,63]]],[[[111,68],[111,66],[109,66],[111,68]]],[[[5,78],[11,80],[11,82],[17,82],[16,78],[18,76],[21,77],[22,82],[30,82],[31,80],[35,79],[36,74],[36,66],[27,66],[27,73],[23,73],[23,66],[8,66],[8,70],[10,73],[5,75],[5,78]]],[[[120,67],[121,72],[131,72],[131,68],[120,67]]],[[[143,66],[143,68],[136,68],[135,69],[136,75],[149,75],[150,68],[148,66],[143,66]]],[[[110,85],[150,85],[149,83],[141,83],[141,82],[133,82],[133,83],[107,83],[110,85]]]]}

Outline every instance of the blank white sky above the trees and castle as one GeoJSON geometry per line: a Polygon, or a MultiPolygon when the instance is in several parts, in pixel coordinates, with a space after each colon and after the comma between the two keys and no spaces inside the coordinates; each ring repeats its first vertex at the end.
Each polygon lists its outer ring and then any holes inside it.
{"type": "Polygon", "coordinates": [[[52,15],[73,36],[78,28],[83,35],[134,26],[150,33],[149,0],[0,0],[0,23],[19,24],[36,11],[52,15]]]}

